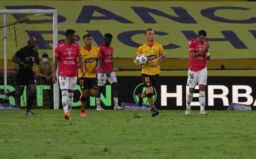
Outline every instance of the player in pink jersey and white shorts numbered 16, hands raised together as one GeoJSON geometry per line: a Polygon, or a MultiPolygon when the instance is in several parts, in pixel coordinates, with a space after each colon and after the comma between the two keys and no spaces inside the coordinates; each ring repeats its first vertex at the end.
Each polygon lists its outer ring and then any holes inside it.
{"type": "Polygon", "coordinates": [[[189,48],[189,64],[188,64],[188,81],[189,91],[187,94],[187,109],[185,115],[190,115],[190,104],[193,99],[195,87],[199,85],[199,102],[200,115],[208,115],[205,112],[205,86],[207,84],[207,63],[210,60],[210,45],[206,41],[206,32],[200,30],[196,39],[192,39],[188,43],[189,48]]]}

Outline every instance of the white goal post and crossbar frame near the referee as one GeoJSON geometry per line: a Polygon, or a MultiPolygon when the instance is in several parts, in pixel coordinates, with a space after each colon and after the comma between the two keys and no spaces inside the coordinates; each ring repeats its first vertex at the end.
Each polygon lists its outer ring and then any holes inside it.
{"type": "MultiPolygon", "coordinates": [[[[0,10],[0,15],[3,15],[4,21],[2,22],[2,25],[0,28],[4,29],[4,91],[7,90],[7,26],[13,25],[14,23],[19,23],[25,20],[25,18],[21,18],[20,20],[16,19],[17,22],[9,23],[8,20],[6,19],[6,15],[52,15],[52,40],[53,40],[53,49],[52,49],[52,54],[53,54],[53,60],[54,60],[54,48],[58,43],[58,14],[57,10],[0,10]]],[[[28,18],[27,18],[28,19],[28,18]]],[[[16,40],[16,39],[15,39],[16,40]]],[[[17,46],[17,45],[16,45],[17,46]]],[[[39,48],[40,49],[40,48],[39,48]]],[[[13,54],[13,52],[10,52],[13,54]]],[[[9,54],[10,54],[9,53],[9,54]]],[[[58,70],[56,72],[56,76],[58,77],[58,70]]],[[[53,86],[53,97],[54,97],[54,109],[59,109],[59,84],[54,84],[53,86]]]]}

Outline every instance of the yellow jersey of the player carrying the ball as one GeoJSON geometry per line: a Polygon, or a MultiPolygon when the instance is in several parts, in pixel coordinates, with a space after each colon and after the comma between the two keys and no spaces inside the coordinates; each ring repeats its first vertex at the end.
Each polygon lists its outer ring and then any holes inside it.
{"type": "Polygon", "coordinates": [[[144,54],[147,56],[147,63],[143,65],[143,69],[141,73],[145,73],[148,75],[156,75],[159,74],[160,71],[160,65],[158,64],[155,67],[151,67],[149,64],[152,61],[158,61],[161,59],[161,53],[164,52],[163,46],[160,45],[159,43],[154,42],[153,45],[148,45],[147,43],[141,45],[138,50],[137,50],[137,55],[138,54],[144,54]]]}

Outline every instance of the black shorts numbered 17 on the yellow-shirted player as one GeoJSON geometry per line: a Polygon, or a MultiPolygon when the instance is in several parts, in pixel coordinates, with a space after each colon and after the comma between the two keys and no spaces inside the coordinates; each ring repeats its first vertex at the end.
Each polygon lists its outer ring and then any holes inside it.
{"type": "Polygon", "coordinates": [[[78,80],[81,90],[85,90],[87,88],[98,90],[98,83],[96,77],[79,77],[78,80]]]}

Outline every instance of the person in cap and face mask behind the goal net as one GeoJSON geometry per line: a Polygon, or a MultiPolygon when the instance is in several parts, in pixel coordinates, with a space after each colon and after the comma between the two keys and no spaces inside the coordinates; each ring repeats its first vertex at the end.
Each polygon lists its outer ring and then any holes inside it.
{"type": "Polygon", "coordinates": [[[36,65],[36,74],[44,77],[46,81],[51,81],[52,72],[52,63],[49,62],[48,54],[43,53],[40,64],[36,65]]]}

